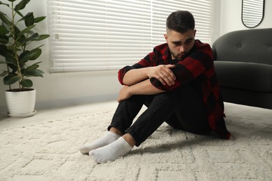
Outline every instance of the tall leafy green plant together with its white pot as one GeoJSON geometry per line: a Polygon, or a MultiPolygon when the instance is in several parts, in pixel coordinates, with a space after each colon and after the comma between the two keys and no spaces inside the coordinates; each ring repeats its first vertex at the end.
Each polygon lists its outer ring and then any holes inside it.
{"type": "Polygon", "coordinates": [[[10,12],[6,15],[0,10],[0,63],[6,64],[6,70],[0,76],[3,77],[3,84],[9,87],[6,103],[10,116],[31,116],[36,112],[36,90],[31,88],[33,81],[29,77],[43,77],[44,74],[38,69],[41,61],[35,61],[42,54],[40,47],[43,45],[33,46],[36,45],[34,42],[44,40],[49,35],[39,35],[33,31],[36,24],[45,19],[44,16],[34,17],[33,12],[26,15],[21,13],[29,1],[0,1],[1,10],[6,8],[5,12],[10,12]],[[17,88],[11,88],[13,84],[17,84],[17,88]]]}

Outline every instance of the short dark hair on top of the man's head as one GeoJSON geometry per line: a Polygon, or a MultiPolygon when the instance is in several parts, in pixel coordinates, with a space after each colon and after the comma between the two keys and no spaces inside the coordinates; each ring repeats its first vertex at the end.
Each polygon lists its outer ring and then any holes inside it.
{"type": "Polygon", "coordinates": [[[166,30],[174,30],[179,33],[185,33],[188,30],[195,29],[195,19],[187,10],[178,10],[171,13],[166,20],[166,30]]]}

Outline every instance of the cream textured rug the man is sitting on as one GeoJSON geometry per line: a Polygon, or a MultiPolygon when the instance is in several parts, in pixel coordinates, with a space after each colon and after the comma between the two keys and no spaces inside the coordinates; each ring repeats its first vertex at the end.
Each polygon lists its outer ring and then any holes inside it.
{"type": "Polygon", "coordinates": [[[271,139],[235,131],[225,141],[166,124],[126,157],[96,164],[77,148],[104,135],[112,115],[0,129],[0,180],[272,180],[271,139]]]}

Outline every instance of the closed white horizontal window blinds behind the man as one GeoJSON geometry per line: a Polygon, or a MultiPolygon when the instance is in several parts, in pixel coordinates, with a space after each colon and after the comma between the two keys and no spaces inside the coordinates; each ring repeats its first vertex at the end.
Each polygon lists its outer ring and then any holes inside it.
{"type": "Polygon", "coordinates": [[[210,42],[212,0],[47,0],[50,72],[133,65],[165,42],[165,21],[175,10],[189,10],[196,38],[210,42]]]}

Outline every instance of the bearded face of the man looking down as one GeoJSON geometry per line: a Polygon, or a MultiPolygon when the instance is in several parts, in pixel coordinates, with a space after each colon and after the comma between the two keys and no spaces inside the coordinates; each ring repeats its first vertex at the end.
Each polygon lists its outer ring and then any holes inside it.
{"type": "Polygon", "coordinates": [[[165,40],[168,43],[168,47],[172,54],[172,59],[176,58],[180,61],[195,44],[196,30],[189,30],[186,33],[178,33],[176,31],[169,30],[165,33],[165,40]]]}

